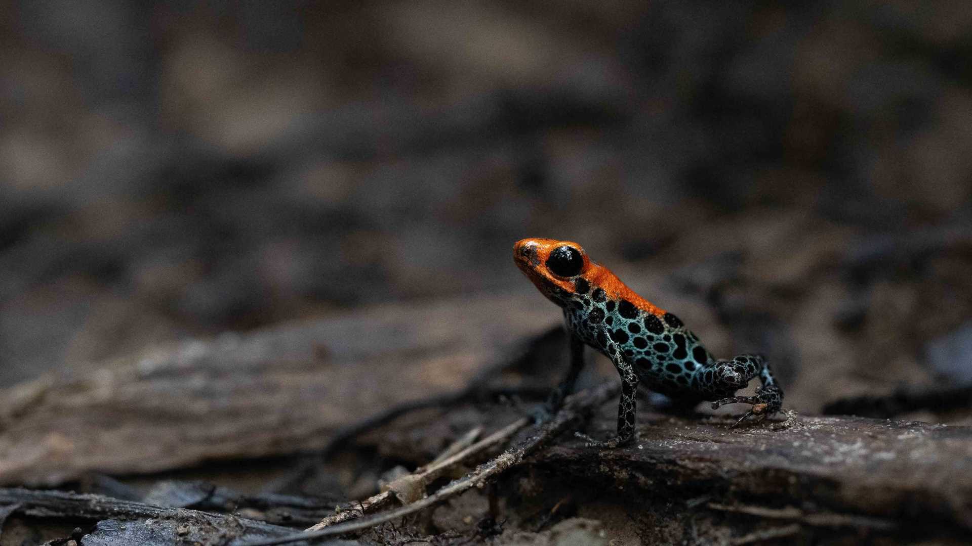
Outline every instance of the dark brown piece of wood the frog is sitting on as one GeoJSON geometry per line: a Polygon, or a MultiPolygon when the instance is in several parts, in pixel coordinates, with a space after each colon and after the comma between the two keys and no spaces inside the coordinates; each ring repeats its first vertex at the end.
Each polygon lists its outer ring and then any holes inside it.
{"type": "MultiPolygon", "coordinates": [[[[564,438],[534,462],[562,480],[654,498],[708,496],[723,509],[745,500],[774,517],[814,507],[793,518],[807,525],[972,532],[972,427],[797,416],[786,427],[731,428],[731,419],[649,412],[640,420],[632,445],[592,457],[564,438]]],[[[607,436],[610,413],[591,428],[607,436]]]]}

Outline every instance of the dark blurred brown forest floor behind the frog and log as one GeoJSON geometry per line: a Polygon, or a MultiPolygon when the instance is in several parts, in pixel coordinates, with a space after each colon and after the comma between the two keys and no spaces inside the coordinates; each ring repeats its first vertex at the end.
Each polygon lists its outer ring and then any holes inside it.
{"type": "Polygon", "coordinates": [[[791,407],[970,385],[970,54],[962,0],[5,2],[0,383],[547,305],[510,256],[545,236],[791,407]]]}

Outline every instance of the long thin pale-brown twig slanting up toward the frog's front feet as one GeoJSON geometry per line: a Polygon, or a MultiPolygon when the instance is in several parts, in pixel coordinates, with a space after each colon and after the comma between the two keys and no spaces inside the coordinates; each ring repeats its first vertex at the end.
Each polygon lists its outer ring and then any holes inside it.
{"type": "MultiPolygon", "coordinates": [[[[619,386],[612,383],[571,396],[568,399],[568,404],[557,413],[553,420],[543,426],[538,427],[538,434],[526,438],[518,446],[506,450],[503,452],[503,454],[494,458],[493,460],[481,464],[478,468],[476,468],[475,471],[470,473],[465,478],[456,480],[446,485],[439,491],[435,492],[434,495],[427,496],[421,500],[408,504],[407,506],[402,506],[397,510],[392,510],[391,512],[386,512],[384,514],[377,514],[371,518],[334,525],[325,529],[305,531],[281,538],[264,540],[260,542],[250,542],[246,544],[247,546],[275,546],[277,544],[286,544],[298,540],[311,540],[315,538],[323,538],[325,536],[335,536],[338,534],[369,529],[385,522],[390,522],[398,518],[408,516],[424,508],[434,506],[439,502],[442,502],[454,495],[463,493],[473,487],[483,487],[489,480],[502,474],[503,471],[514,466],[520,461],[523,461],[527,456],[537,452],[537,450],[546,444],[547,441],[563,432],[573,422],[579,420],[582,413],[590,408],[601,405],[608,400],[608,398],[615,395],[618,390],[619,386]]],[[[528,421],[526,419],[521,419],[503,428],[503,430],[497,432],[497,434],[503,433],[508,437],[520,428],[525,427],[527,423],[528,421]]],[[[483,441],[485,442],[486,440],[483,441]]],[[[471,447],[469,449],[471,449],[471,447]]]]}

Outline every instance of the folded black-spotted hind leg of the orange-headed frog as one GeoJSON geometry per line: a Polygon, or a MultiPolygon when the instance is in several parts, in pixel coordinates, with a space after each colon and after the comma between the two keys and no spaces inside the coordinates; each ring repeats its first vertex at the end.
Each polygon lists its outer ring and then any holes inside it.
{"type": "Polygon", "coordinates": [[[719,398],[712,402],[712,409],[726,404],[744,403],[752,405],[736,423],[739,425],[749,416],[756,416],[760,420],[772,415],[782,406],[783,392],[780,384],[773,376],[769,362],[762,355],[740,355],[731,360],[716,360],[711,365],[700,369],[695,376],[699,381],[701,391],[707,392],[712,398],[719,398]],[[736,396],[736,391],[749,384],[749,380],[759,376],[762,386],[753,396],[736,396]]]}

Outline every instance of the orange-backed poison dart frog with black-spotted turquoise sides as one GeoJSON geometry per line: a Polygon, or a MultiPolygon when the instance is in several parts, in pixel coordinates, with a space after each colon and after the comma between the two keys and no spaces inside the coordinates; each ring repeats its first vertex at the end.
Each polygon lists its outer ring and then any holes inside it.
{"type": "Polygon", "coordinates": [[[570,334],[570,371],[551,394],[547,409],[558,408],[573,392],[584,364],[584,345],[610,358],[621,376],[617,434],[600,441],[577,432],[588,446],[614,448],[634,439],[635,392],[640,383],[679,402],[712,401],[712,409],[751,404],[736,425],[750,416],[762,420],[780,411],[783,392],[765,358],[712,358],[675,315],[629,289],[607,267],[591,260],[580,245],[523,239],[513,246],[513,259],[547,299],[563,308],[570,334]],[[736,395],[757,376],[762,387],[755,395],[736,395]]]}

